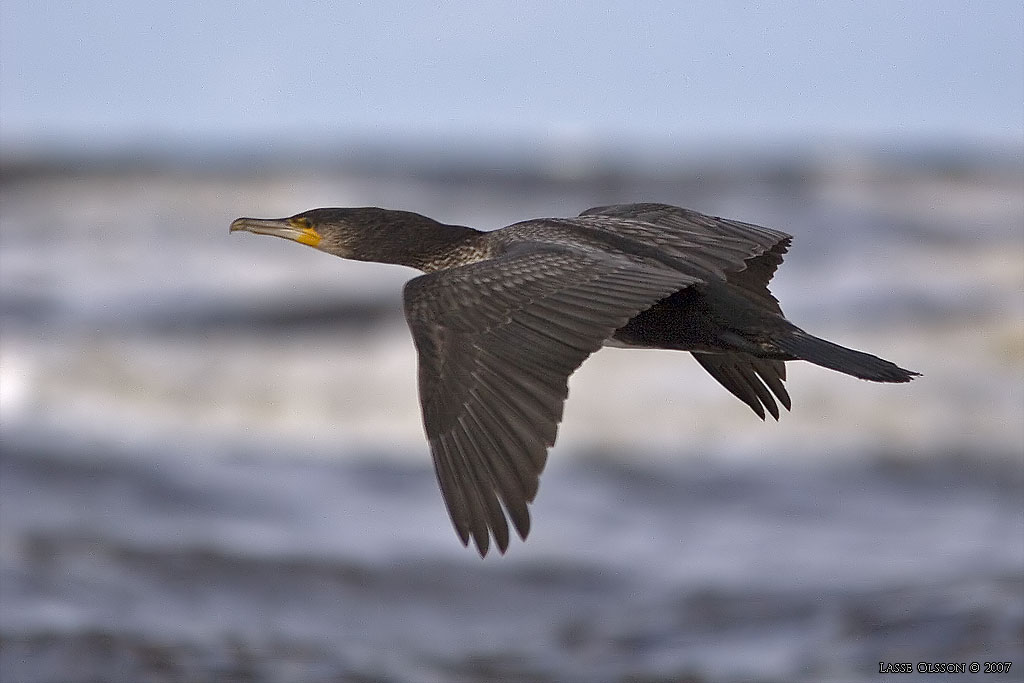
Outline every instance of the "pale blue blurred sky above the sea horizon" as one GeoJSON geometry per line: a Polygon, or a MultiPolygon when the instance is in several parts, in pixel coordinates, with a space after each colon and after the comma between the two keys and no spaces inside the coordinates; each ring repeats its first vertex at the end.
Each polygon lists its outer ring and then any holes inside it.
{"type": "Polygon", "coordinates": [[[1024,140],[1024,3],[0,3],[7,151],[1024,140]]]}

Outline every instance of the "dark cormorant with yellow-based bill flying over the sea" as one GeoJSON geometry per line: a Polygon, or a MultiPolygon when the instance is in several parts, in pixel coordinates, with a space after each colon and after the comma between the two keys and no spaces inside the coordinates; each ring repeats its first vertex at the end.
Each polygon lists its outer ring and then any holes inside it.
{"type": "Polygon", "coordinates": [[[463,545],[522,539],[555,442],[569,375],[602,345],[690,351],[764,420],[791,408],[785,361],[873,382],[918,373],[814,337],[782,315],[768,282],[792,237],[665,204],[480,231],[408,211],[313,209],[239,218],[342,258],[411,266],[406,318],[423,424],[463,545]]]}

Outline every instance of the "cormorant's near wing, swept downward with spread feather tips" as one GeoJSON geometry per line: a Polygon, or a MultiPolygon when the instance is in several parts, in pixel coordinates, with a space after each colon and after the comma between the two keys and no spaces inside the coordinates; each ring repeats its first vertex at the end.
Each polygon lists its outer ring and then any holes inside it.
{"type": "Polygon", "coordinates": [[[569,375],[633,315],[694,282],[658,263],[518,244],[410,281],[406,317],[434,469],[463,544],[522,538],[569,375]],[[504,511],[503,511],[504,506],[504,511]]]}

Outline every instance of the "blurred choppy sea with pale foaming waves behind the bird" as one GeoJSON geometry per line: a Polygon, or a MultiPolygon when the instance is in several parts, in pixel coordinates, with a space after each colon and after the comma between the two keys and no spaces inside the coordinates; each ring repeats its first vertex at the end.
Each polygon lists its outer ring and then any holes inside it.
{"type": "Polygon", "coordinates": [[[1013,659],[1019,169],[812,171],[4,174],[0,679],[874,680],[880,660],[1013,659]],[[924,377],[791,364],[794,412],[766,424],[684,354],[603,350],[570,382],[528,543],[482,562],[430,471],[415,273],[227,234],[314,206],[500,227],[640,200],[794,233],[773,286],[791,319],[924,377]]]}

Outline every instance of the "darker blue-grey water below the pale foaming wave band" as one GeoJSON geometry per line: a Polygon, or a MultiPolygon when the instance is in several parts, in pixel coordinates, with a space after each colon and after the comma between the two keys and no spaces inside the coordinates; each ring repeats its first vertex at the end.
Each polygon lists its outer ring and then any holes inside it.
{"type": "Polygon", "coordinates": [[[867,681],[1020,658],[1012,465],[575,458],[529,542],[480,560],[426,466],[128,456],[0,452],[0,680],[867,681]]]}

